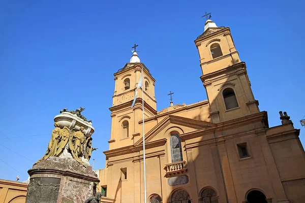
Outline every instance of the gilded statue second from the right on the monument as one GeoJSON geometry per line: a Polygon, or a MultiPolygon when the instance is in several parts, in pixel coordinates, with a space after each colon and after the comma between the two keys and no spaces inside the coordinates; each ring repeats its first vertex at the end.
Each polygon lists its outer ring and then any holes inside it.
{"type": "Polygon", "coordinates": [[[84,128],[80,127],[79,131],[75,131],[73,128],[70,133],[69,138],[69,147],[71,150],[71,154],[73,158],[83,165],[83,162],[81,161],[81,157],[83,155],[83,149],[84,149],[84,143],[85,143],[85,136],[82,132],[84,128]]]}

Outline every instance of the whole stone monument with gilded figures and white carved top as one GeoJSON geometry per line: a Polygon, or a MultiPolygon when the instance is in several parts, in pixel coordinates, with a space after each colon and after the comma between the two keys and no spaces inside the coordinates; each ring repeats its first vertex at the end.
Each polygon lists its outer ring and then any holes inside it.
{"type": "Polygon", "coordinates": [[[89,164],[96,150],[91,138],[94,127],[83,110],[63,109],[55,116],[46,153],[28,170],[26,203],[83,203],[96,195],[100,180],[89,164]]]}

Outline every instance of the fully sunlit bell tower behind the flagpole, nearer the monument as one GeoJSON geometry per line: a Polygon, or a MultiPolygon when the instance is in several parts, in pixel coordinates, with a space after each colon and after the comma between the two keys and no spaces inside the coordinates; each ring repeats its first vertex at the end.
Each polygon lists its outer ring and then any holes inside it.
{"type": "MultiPolygon", "coordinates": [[[[133,47],[135,48],[135,47],[133,47]]],[[[147,67],[141,63],[136,51],[129,63],[114,73],[114,93],[111,111],[111,138],[108,141],[109,150],[133,145],[142,134],[142,94],[144,98],[144,118],[157,115],[157,101],[155,97],[155,79],[147,67]],[[131,108],[135,98],[135,91],[143,70],[143,88],[138,89],[135,105],[131,108]]]]}

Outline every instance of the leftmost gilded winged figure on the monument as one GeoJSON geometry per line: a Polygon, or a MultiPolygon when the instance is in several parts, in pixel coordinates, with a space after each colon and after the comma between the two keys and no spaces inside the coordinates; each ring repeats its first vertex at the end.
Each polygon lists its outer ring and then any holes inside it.
{"type": "Polygon", "coordinates": [[[51,136],[51,140],[49,142],[48,145],[48,149],[46,154],[37,162],[41,161],[41,160],[45,160],[50,156],[55,156],[56,152],[57,152],[57,145],[58,142],[60,140],[60,128],[59,128],[59,124],[57,122],[54,123],[55,129],[52,130],[52,136],[51,136]]]}

